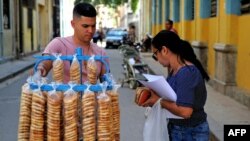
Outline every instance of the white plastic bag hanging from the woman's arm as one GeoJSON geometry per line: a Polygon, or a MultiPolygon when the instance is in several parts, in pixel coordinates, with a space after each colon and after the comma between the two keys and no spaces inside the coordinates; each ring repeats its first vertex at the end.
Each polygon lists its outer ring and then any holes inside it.
{"type": "Polygon", "coordinates": [[[166,141],[168,139],[166,110],[159,99],[148,113],[143,129],[143,141],[166,141]]]}

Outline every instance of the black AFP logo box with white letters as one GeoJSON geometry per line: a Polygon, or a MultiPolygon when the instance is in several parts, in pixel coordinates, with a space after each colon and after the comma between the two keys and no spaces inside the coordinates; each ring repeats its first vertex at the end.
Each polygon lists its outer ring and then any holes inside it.
{"type": "Polygon", "coordinates": [[[250,125],[224,125],[224,140],[250,140],[250,125]]]}

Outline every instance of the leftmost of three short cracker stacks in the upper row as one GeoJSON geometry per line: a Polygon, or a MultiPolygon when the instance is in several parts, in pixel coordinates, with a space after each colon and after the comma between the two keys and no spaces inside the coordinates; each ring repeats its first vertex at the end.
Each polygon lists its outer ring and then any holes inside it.
{"type": "Polygon", "coordinates": [[[53,79],[55,82],[62,83],[64,75],[64,64],[62,60],[55,60],[53,62],[53,79]]]}

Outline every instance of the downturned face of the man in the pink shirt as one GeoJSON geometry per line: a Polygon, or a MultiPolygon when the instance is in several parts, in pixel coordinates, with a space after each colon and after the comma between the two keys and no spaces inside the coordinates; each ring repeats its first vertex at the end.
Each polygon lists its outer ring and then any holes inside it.
{"type": "Polygon", "coordinates": [[[75,36],[82,42],[90,42],[96,31],[96,17],[73,18],[71,25],[75,36]]]}

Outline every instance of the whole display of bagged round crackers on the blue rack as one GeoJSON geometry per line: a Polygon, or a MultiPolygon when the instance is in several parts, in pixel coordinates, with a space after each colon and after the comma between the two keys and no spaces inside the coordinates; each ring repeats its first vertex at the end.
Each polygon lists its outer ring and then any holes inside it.
{"type": "Polygon", "coordinates": [[[37,71],[22,86],[18,140],[120,140],[120,85],[110,74],[107,75],[111,80],[110,89],[107,89],[109,84],[106,81],[97,82],[94,57],[90,57],[84,66],[88,81],[80,84],[81,61],[76,55],[70,66],[70,82],[64,84],[64,60],[58,54],[55,57],[52,68],[54,82],[46,82],[37,71]],[[96,86],[101,90],[94,91],[96,86]],[[80,89],[76,90],[77,87],[80,89]]]}

